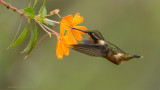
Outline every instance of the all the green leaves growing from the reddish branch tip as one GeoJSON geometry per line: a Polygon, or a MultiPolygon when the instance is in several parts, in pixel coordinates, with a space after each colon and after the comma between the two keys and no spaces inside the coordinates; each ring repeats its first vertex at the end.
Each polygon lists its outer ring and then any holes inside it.
{"type": "MultiPolygon", "coordinates": [[[[35,18],[35,15],[36,15],[35,11],[34,11],[34,8],[36,7],[37,2],[38,2],[38,0],[35,0],[33,8],[30,7],[30,5],[31,5],[31,2],[30,2],[29,3],[29,7],[23,9],[23,12],[31,19],[31,22],[35,18]]],[[[37,15],[38,16],[37,17],[38,21],[40,21],[42,23],[45,23],[47,25],[54,25],[53,22],[44,19],[45,16],[47,15],[47,10],[46,10],[45,3],[46,3],[46,0],[44,0],[43,5],[40,8],[39,13],[37,15]]],[[[25,38],[27,37],[27,35],[28,35],[28,29],[29,29],[29,23],[26,25],[25,29],[23,30],[21,35],[18,37],[18,39],[13,44],[11,44],[10,47],[17,46],[20,43],[22,43],[25,40],[25,38]]],[[[30,41],[29,41],[27,47],[21,52],[21,53],[26,53],[26,57],[33,50],[33,48],[36,45],[36,43],[37,43],[37,35],[38,35],[37,26],[35,25],[34,32],[31,30],[31,38],[30,38],[30,41]]]]}

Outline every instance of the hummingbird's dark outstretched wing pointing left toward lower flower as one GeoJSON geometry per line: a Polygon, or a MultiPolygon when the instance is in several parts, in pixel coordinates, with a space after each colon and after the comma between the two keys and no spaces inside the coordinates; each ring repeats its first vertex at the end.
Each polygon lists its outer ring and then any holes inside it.
{"type": "Polygon", "coordinates": [[[106,49],[102,45],[96,45],[96,44],[76,44],[72,45],[74,50],[90,55],[95,57],[105,57],[106,56],[106,49]]]}

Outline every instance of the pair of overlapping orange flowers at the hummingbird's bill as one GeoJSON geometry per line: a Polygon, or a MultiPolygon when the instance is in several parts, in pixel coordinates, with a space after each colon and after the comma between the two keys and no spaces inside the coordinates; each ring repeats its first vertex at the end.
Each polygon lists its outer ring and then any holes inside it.
{"type": "Polygon", "coordinates": [[[84,26],[76,26],[83,22],[83,17],[77,13],[74,18],[72,15],[68,15],[63,17],[60,22],[60,35],[57,37],[57,46],[56,46],[56,55],[58,59],[62,59],[63,55],[69,55],[69,47],[70,45],[77,44],[77,41],[82,40],[81,34],[84,34],[81,31],[74,30],[72,28],[87,30],[84,26]],[[67,30],[65,36],[65,30],[67,30]]]}

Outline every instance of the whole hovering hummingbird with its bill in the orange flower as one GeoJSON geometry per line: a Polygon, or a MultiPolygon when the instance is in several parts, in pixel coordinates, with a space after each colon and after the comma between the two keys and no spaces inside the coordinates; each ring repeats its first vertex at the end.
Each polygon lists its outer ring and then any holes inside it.
{"type": "Polygon", "coordinates": [[[84,44],[72,45],[72,49],[78,52],[81,52],[90,56],[106,58],[107,60],[111,61],[116,65],[119,65],[125,61],[129,61],[132,58],[143,57],[139,55],[130,55],[125,53],[116,45],[106,41],[103,38],[102,34],[97,30],[84,31],[76,28],[72,28],[72,29],[79,30],[85,33],[91,41],[91,43],[85,42],[84,44]]]}

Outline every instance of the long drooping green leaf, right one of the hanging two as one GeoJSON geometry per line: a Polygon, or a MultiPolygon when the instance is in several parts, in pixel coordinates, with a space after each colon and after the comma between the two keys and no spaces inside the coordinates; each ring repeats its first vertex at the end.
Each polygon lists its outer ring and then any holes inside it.
{"type": "Polygon", "coordinates": [[[34,33],[29,41],[29,44],[21,53],[27,52],[27,54],[26,54],[26,56],[27,56],[33,50],[36,43],[37,43],[37,26],[35,25],[34,33]]]}

